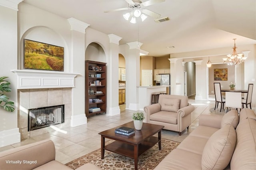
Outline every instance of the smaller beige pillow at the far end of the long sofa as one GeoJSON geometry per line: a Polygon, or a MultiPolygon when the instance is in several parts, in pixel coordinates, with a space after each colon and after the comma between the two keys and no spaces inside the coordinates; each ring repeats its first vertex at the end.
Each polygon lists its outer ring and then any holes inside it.
{"type": "Polygon", "coordinates": [[[239,116],[238,112],[236,110],[230,110],[228,113],[226,113],[221,120],[220,127],[224,127],[225,125],[232,124],[233,127],[236,129],[239,122],[239,116]]]}

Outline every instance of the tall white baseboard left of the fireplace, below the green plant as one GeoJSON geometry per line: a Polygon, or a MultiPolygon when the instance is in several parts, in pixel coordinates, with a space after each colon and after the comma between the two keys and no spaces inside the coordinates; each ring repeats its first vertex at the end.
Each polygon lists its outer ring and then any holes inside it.
{"type": "Polygon", "coordinates": [[[0,147],[20,142],[19,128],[0,131],[0,147]]]}

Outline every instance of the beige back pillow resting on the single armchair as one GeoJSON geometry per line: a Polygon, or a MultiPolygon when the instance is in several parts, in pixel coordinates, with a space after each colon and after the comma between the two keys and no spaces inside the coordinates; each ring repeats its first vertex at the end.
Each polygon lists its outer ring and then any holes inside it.
{"type": "Polygon", "coordinates": [[[179,99],[168,99],[164,98],[162,100],[161,104],[161,111],[173,111],[176,112],[180,106],[180,100],[179,99]]]}

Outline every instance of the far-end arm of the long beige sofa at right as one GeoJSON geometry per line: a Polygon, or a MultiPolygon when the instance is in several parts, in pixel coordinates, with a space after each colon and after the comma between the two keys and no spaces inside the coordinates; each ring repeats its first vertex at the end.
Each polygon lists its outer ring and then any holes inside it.
{"type": "Polygon", "coordinates": [[[199,125],[220,129],[223,115],[200,115],[199,125]]]}

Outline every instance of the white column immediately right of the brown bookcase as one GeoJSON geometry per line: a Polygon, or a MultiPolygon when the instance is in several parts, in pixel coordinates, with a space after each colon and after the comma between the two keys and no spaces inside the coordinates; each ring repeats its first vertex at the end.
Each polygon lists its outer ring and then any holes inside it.
{"type": "Polygon", "coordinates": [[[107,67],[107,112],[106,115],[113,116],[120,114],[120,107],[118,105],[118,55],[119,55],[119,41],[122,37],[114,34],[108,35],[110,40],[110,50],[107,67]]]}

